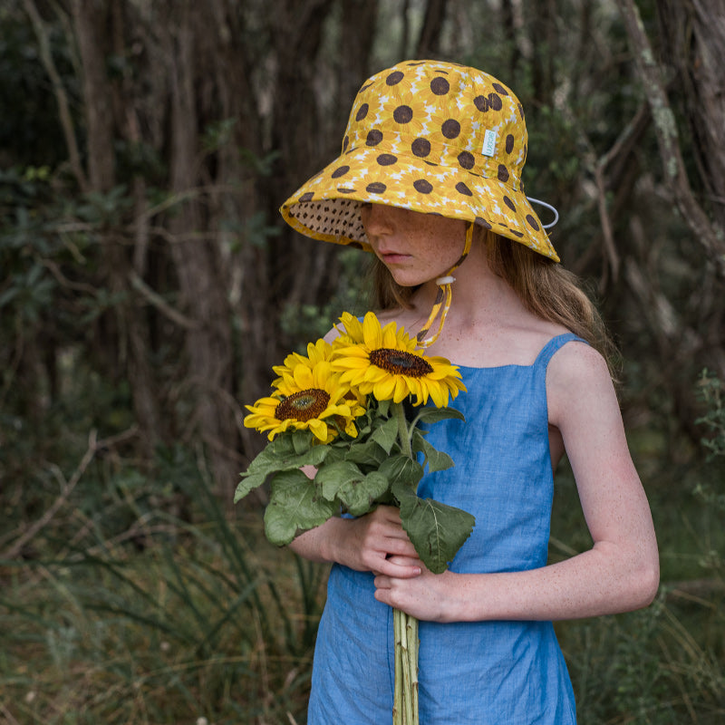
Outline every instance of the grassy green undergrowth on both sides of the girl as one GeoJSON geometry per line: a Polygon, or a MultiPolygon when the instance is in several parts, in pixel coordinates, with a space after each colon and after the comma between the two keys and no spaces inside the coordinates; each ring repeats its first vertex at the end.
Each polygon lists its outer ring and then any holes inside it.
{"type": "MultiPolygon", "coordinates": [[[[655,603],[556,624],[580,725],[725,721],[725,418],[721,387],[701,389],[710,458],[639,461],[655,603]]],[[[325,568],[267,544],[258,511],[230,514],[199,451],[147,467],[123,433],[66,440],[71,465],[39,458],[2,498],[0,721],[303,725],[325,568]]],[[[552,560],[590,546],[565,468],[552,531],[552,560]]]]}

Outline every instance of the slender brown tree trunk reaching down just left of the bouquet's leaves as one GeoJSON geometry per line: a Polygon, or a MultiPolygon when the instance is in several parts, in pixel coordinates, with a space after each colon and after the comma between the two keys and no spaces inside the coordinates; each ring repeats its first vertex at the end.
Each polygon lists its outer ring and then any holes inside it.
{"type": "MultiPolygon", "coordinates": [[[[171,83],[170,169],[172,193],[189,194],[198,186],[199,127],[196,84],[201,69],[195,43],[204,27],[203,10],[191,0],[174,8],[175,36],[169,38],[167,59],[171,83]]],[[[188,383],[192,401],[188,431],[197,429],[208,446],[211,472],[225,498],[237,485],[237,428],[229,413],[227,395],[232,390],[233,344],[226,275],[215,235],[198,196],[179,203],[169,218],[171,258],[179,279],[182,308],[191,320],[185,332],[188,383]]]]}

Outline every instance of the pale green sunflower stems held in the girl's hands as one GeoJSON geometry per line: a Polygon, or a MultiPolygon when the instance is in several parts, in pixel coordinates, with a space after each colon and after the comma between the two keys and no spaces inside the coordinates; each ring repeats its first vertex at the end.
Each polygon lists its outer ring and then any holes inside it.
{"type": "MultiPolygon", "coordinates": [[[[408,421],[401,403],[392,403],[398,421],[401,451],[412,459],[413,450],[408,421]]],[[[392,610],[395,639],[395,688],[392,706],[393,725],[419,725],[418,719],[418,620],[400,609],[392,610]]]]}

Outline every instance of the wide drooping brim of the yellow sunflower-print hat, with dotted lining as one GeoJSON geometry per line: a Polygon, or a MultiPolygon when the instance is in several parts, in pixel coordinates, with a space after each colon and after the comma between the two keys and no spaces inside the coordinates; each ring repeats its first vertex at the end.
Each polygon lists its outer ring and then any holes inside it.
{"type": "Polygon", "coordinates": [[[558,262],[526,195],[507,180],[420,160],[399,148],[362,145],[306,181],[280,212],[307,237],[372,251],[360,206],[387,204],[474,222],[558,262]]]}

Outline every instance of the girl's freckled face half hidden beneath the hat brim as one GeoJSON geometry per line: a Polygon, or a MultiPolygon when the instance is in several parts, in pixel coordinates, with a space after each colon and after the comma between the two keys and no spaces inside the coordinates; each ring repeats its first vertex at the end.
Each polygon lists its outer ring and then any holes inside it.
{"type": "Polygon", "coordinates": [[[446,275],[463,253],[466,222],[461,219],[383,204],[363,204],[360,216],[372,251],[401,286],[446,275]]]}

